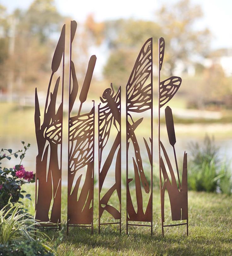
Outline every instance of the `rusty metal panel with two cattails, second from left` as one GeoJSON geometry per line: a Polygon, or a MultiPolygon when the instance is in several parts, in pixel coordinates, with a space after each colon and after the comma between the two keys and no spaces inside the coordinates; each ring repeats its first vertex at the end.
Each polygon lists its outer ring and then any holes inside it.
{"type": "Polygon", "coordinates": [[[92,79],[96,56],[91,56],[79,95],[78,114],[72,114],[78,94],[78,82],[72,61],[72,42],[77,23],[71,21],[69,111],[68,111],[68,219],[69,226],[91,224],[93,232],[94,180],[94,103],[89,113],[81,113],[92,79]],[[72,85],[72,86],[71,86],[72,85]],[[82,185],[81,185],[82,183],[82,185]]]}

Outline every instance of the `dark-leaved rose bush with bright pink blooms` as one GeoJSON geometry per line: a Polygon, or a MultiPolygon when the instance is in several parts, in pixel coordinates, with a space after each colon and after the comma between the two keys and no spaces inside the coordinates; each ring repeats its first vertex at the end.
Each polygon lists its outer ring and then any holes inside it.
{"type": "MultiPolygon", "coordinates": [[[[17,158],[19,153],[21,159],[19,165],[15,165],[13,168],[8,169],[0,166],[0,209],[7,205],[9,201],[11,203],[21,203],[19,200],[24,198],[23,193],[26,193],[25,190],[21,190],[21,186],[25,183],[35,182],[33,172],[27,172],[22,165],[22,159],[25,157],[30,144],[25,145],[24,141],[22,141],[22,144],[23,150],[18,150],[15,153],[12,153],[12,149],[2,148],[0,151],[0,161],[3,159],[10,160],[12,156],[17,158]]],[[[26,194],[25,197],[31,200],[30,194],[26,194]]]]}

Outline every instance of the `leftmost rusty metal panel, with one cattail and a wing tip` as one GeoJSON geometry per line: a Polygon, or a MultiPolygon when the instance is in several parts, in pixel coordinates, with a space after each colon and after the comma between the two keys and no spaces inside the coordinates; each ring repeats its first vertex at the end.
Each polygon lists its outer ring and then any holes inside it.
{"type": "Polygon", "coordinates": [[[43,123],[41,125],[39,99],[35,90],[35,132],[38,145],[36,157],[36,199],[35,218],[50,221],[54,226],[61,221],[61,168],[62,168],[62,126],[63,126],[63,78],[64,78],[65,25],[52,59],[51,78],[48,85],[43,123]],[[62,62],[61,62],[62,61],[62,62]],[[62,66],[60,77],[54,81],[54,74],[62,66]],[[54,84],[54,90],[51,86],[54,84]],[[61,103],[57,102],[58,89],[62,86],[61,103]],[[60,104],[56,110],[56,104],[60,104]],[[49,212],[51,211],[51,216],[49,212]]]}

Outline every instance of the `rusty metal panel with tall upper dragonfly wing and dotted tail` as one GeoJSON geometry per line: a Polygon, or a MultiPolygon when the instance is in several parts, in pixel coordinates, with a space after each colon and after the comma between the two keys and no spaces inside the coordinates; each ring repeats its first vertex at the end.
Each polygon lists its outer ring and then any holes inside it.
{"type": "MultiPolygon", "coordinates": [[[[126,86],[126,133],[127,133],[127,232],[128,221],[151,222],[152,230],[152,38],[143,45],[134,68],[126,86]],[[143,138],[143,145],[136,137],[137,129],[140,129],[143,116],[150,115],[150,134],[143,138]],[[145,147],[147,160],[150,163],[151,184],[146,179],[144,162],[142,161],[140,147],[145,147]],[[129,153],[134,155],[131,157],[129,153]],[[137,201],[137,211],[134,209],[131,198],[130,182],[133,178],[128,178],[128,168],[132,165],[134,169],[135,191],[137,201]],[[142,186],[141,186],[142,183],[142,186]],[[143,209],[142,187],[147,194],[150,193],[146,210],[143,209]]],[[[147,170],[146,170],[147,171],[147,170]]]]}

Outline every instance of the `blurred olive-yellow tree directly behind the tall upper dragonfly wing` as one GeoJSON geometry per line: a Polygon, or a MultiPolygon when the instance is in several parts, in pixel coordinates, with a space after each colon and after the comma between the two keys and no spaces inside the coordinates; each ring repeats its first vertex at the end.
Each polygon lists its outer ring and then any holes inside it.
{"type": "Polygon", "coordinates": [[[120,19],[105,22],[104,36],[110,55],[104,66],[104,77],[116,85],[125,85],[141,47],[150,37],[154,42],[154,56],[158,56],[159,34],[160,27],[152,21],[120,19]]]}

